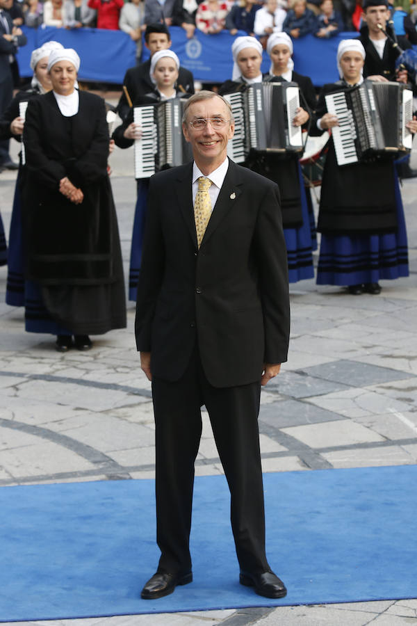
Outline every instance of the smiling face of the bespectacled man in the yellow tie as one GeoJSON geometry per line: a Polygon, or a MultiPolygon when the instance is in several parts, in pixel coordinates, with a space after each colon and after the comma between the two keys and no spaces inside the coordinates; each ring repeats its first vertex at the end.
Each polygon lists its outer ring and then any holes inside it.
{"type": "Polygon", "coordinates": [[[216,95],[194,102],[188,107],[183,134],[193,148],[197,166],[206,175],[218,168],[227,157],[227,143],[234,134],[234,122],[230,120],[230,115],[227,105],[216,95]],[[213,129],[210,122],[201,130],[190,125],[193,120],[213,118],[227,122],[220,129],[213,129]]]}

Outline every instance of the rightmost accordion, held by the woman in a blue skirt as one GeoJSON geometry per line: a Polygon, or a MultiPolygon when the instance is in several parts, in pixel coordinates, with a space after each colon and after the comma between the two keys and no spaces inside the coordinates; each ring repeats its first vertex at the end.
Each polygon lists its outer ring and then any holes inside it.
{"type": "Polygon", "coordinates": [[[363,81],[327,94],[325,100],[339,122],[332,128],[339,166],[411,150],[412,135],[405,125],[413,119],[413,93],[401,83],[363,81]]]}

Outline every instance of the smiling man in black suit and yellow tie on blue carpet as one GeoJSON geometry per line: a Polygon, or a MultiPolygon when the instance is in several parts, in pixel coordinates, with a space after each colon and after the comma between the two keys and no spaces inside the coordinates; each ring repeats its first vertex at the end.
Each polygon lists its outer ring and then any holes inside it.
{"type": "Polygon", "coordinates": [[[151,179],[138,282],[136,344],[152,380],[161,549],[142,597],[162,597],[193,579],[189,536],[202,405],[231,491],[240,583],[283,597],[284,583],[265,556],[258,431],[261,385],[279,373],[288,350],[279,190],[227,158],[234,120],[222,97],[190,97],[183,133],[194,161],[151,179]]]}

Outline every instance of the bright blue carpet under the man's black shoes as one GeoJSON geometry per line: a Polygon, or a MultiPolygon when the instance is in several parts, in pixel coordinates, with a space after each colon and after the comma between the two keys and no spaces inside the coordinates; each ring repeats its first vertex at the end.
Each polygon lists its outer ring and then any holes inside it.
{"type": "Polygon", "coordinates": [[[283,600],[238,584],[223,476],[195,481],[194,582],[154,601],[154,481],[1,488],[0,621],[416,597],[417,465],[264,479],[283,600]]]}

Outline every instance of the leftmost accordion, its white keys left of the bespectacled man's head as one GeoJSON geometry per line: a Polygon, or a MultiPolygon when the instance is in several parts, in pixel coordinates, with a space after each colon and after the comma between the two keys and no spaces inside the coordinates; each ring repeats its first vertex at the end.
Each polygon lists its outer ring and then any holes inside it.
{"type": "Polygon", "coordinates": [[[142,127],[142,138],[134,143],[136,178],[149,178],[193,158],[182,133],[183,102],[173,98],[133,109],[133,122],[142,127]]]}

